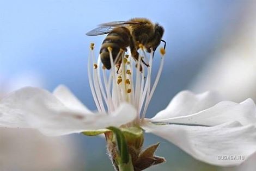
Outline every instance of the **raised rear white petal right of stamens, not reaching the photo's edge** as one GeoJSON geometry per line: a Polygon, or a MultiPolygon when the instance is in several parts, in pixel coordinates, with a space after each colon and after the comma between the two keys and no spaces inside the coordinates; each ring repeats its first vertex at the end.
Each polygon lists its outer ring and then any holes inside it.
{"type": "Polygon", "coordinates": [[[152,119],[166,119],[170,117],[178,117],[191,115],[204,109],[214,106],[221,102],[222,98],[215,92],[204,92],[202,94],[194,94],[190,91],[181,91],[178,93],[166,109],[160,111],[152,119]]]}

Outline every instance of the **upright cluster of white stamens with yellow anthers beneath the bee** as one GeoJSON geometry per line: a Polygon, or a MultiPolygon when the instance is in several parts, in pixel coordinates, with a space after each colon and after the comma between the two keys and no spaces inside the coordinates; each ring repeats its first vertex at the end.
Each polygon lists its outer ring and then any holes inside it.
{"type": "Polygon", "coordinates": [[[138,60],[133,60],[132,55],[124,52],[123,49],[120,49],[117,56],[113,56],[112,48],[109,47],[111,69],[107,71],[101,63],[100,55],[97,59],[95,58],[94,43],[91,43],[88,58],[88,78],[99,112],[110,113],[117,109],[121,103],[130,103],[136,107],[138,119],[145,117],[149,102],[159,82],[165,51],[163,48],[160,49],[161,62],[153,82],[151,74],[154,52],[151,49],[151,53],[147,56],[144,47],[140,47],[138,60]],[[154,84],[151,86],[151,83],[154,84]]]}

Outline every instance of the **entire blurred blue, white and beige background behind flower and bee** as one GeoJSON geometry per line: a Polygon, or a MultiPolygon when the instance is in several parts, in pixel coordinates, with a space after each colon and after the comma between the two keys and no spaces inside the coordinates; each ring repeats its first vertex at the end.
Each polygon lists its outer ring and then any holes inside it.
{"type": "MultiPolygon", "coordinates": [[[[253,0],[0,1],[0,99],[22,86],[52,91],[64,84],[95,110],[87,56],[90,42],[99,50],[105,36],[85,33],[100,23],[147,17],[165,28],[167,42],[164,69],[148,117],[185,89],[217,90],[236,102],[256,100],[255,11],[253,0]]],[[[148,170],[254,168],[246,163],[232,168],[211,166],[159,137],[145,136],[145,146],[156,142],[162,142],[157,155],[166,157],[167,163],[148,170]]],[[[0,129],[0,170],[113,168],[101,137],[49,138],[34,130],[0,129]]]]}

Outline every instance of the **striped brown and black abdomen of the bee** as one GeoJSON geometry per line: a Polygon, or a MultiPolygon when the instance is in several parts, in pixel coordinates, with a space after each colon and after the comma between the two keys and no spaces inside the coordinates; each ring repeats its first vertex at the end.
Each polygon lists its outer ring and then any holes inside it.
{"type": "MultiPolygon", "coordinates": [[[[112,48],[113,60],[117,58],[120,49],[125,50],[130,45],[131,35],[129,29],[125,27],[114,28],[102,42],[100,49],[100,58],[102,64],[107,68],[111,68],[111,62],[108,47],[112,48]]],[[[116,61],[117,62],[117,61],[116,61]]]]}

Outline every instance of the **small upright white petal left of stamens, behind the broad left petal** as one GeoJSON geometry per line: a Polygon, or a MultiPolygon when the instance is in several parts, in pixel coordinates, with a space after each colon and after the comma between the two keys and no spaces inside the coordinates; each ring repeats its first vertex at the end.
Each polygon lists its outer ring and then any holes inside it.
{"type": "Polygon", "coordinates": [[[53,95],[56,96],[60,102],[62,102],[66,107],[71,110],[77,110],[78,112],[93,113],[86,106],[83,105],[80,100],[69,90],[68,87],[64,85],[59,85],[53,91],[53,95]]]}

